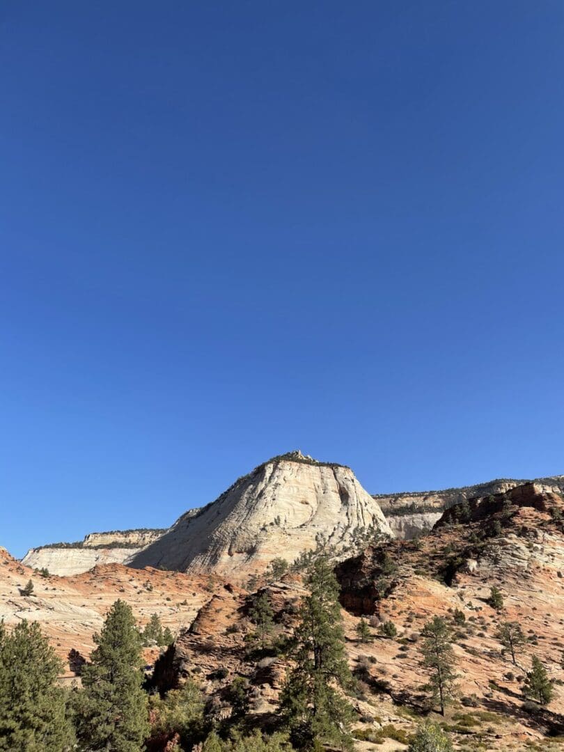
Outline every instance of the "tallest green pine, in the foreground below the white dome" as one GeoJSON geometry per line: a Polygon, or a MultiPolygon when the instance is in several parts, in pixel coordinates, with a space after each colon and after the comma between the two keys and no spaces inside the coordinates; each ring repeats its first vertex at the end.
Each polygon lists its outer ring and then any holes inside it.
{"type": "Polygon", "coordinates": [[[294,635],[296,665],[284,681],[280,710],[297,747],[311,748],[314,742],[350,746],[352,709],[338,687],[348,687],[351,676],[338,583],[326,557],[314,562],[307,584],[311,593],[302,602],[294,635]]]}

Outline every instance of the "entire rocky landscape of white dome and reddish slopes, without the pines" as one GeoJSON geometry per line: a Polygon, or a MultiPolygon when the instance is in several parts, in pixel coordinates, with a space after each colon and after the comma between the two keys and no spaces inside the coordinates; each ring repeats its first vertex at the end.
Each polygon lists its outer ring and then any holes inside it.
{"type": "Polygon", "coordinates": [[[556,750],[564,738],[562,485],[562,476],[493,481],[479,487],[481,496],[472,496],[475,487],[432,493],[426,506],[418,494],[378,497],[393,510],[393,538],[350,468],[291,453],[255,468],[165,532],[92,534],[80,544],[47,547],[50,559],[41,559],[46,549],[35,549],[22,562],[0,549],[0,617],[8,628],[38,620],[64,659],[71,648],[88,656],[105,612],[124,599],[141,626],[156,613],[177,637],[160,657],[158,648],[146,651],[147,663],[158,659],[156,688],[196,678],[209,706],[225,717],[229,686],[243,678],[250,713],[268,723],[288,666],[280,646],[307,592],[302,565],[278,579],[268,565],[325,550],[341,588],[347,657],[359,681],[356,749],[406,749],[408,733],[429,713],[421,630],[441,616],[453,629],[459,692],[444,719],[431,717],[450,730],[456,749],[556,750]],[[430,519],[432,530],[414,538],[430,519]],[[129,566],[84,558],[112,551],[129,566]],[[56,576],[56,556],[62,570],[79,566],[80,556],[96,566],[56,576]],[[38,571],[43,567],[50,572],[38,571]],[[492,587],[502,594],[496,608],[492,587]],[[275,626],[272,644],[257,652],[250,611],[259,592],[268,594],[275,626]],[[368,642],[356,634],[361,617],[370,625],[368,642]],[[496,636],[502,621],[518,622],[526,635],[517,665],[496,636]],[[555,682],[543,709],[527,707],[521,689],[533,655],[555,682]]]}

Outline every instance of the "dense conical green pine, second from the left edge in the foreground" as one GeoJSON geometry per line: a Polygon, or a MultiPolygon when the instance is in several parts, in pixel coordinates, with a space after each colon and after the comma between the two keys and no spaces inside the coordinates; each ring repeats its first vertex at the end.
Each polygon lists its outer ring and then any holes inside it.
{"type": "Polygon", "coordinates": [[[147,736],[147,696],[141,688],[141,638],[132,610],[118,600],[94,635],[92,663],[82,672],[77,708],[83,750],[139,752],[147,736]]]}

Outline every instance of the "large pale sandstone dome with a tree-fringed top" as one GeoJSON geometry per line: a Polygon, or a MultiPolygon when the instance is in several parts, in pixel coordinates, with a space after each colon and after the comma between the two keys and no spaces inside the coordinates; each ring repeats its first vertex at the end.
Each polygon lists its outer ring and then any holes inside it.
{"type": "Polygon", "coordinates": [[[265,462],[213,504],[180,517],[132,566],[244,581],[276,557],[292,562],[319,538],[340,549],[353,543],[355,531],[370,528],[391,535],[378,503],[350,468],[292,453],[265,462]]]}

